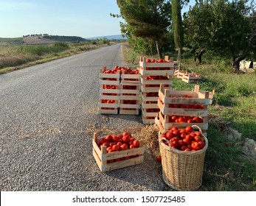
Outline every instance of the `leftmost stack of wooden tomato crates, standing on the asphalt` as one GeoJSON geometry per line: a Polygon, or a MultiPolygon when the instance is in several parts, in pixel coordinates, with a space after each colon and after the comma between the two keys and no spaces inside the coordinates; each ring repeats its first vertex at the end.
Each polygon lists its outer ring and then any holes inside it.
{"type": "Polygon", "coordinates": [[[120,103],[120,74],[107,70],[106,67],[100,69],[100,102],[98,113],[117,114],[120,103]]]}

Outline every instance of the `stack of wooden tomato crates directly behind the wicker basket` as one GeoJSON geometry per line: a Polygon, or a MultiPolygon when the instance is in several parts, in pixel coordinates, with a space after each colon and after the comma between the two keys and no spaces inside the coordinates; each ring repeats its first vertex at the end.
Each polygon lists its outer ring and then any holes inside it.
{"type": "Polygon", "coordinates": [[[172,127],[197,125],[207,135],[209,104],[209,92],[199,91],[199,85],[195,85],[194,90],[171,90],[161,85],[158,100],[160,111],[155,118],[156,126],[160,132],[164,132],[172,127]]]}

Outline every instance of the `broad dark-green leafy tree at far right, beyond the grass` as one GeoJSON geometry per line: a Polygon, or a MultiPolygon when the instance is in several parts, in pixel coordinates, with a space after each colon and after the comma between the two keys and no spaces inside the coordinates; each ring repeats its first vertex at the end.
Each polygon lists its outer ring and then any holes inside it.
{"type": "MultiPolygon", "coordinates": [[[[231,57],[234,65],[241,51],[246,56],[248,34],[253,34],[249,8],[243,0],[196,0],[195,6],[184,15],[184,27],[184,38],[190,49],[206,49],[231,57]]],[[[240,60],[245,56],[241,55],[240,60]]]]}

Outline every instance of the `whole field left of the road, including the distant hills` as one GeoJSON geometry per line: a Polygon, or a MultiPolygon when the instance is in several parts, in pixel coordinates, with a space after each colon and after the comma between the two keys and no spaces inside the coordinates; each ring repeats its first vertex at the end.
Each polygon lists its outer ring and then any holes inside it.
{"type": "Polygon", "coordinates": [[[44,38],[44,40],[40,38],[0,38],[0,74],[111,44],[105,40],[82,42],[79,40],[76,37],[64,38],[62,36],[52,39],[44,38]],[[74,43],[73,40],[77,42],[74,43]]]}

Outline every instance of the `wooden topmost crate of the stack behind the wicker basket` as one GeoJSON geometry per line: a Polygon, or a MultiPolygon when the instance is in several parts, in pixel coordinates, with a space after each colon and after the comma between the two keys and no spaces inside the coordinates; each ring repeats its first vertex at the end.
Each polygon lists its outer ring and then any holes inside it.
{"type": "Polygon", "coordinates": [[[165,104],[210,104],[210,99],[208,98],[209,92],[200,93],[199,85],[195,85],[195,90],[164,90],[162,85],[159,89],[159,98],[165,104]],[[173,98],[169,96],[193,96],[193,98],[173,98]]]}

